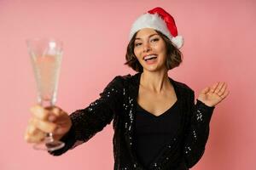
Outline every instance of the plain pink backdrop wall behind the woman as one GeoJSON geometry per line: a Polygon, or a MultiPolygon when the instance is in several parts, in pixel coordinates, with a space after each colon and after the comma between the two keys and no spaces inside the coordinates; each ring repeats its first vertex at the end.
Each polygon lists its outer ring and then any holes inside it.
{"type": "Polygon", "coordinates": [[[113,169],[112,126],[63,156],[32,149],[23,139],[36,88],[27,37],[65,43],[57,105],[84,108],[125,63],[131,23],[150,8],[170,12],[185,39],[183,64],[169,76],[195,90],[225,81],[230,95],[214,111],[205,155],[193,170],[256,169],[255,1],[0,0],[0,169],[113,169]]]}

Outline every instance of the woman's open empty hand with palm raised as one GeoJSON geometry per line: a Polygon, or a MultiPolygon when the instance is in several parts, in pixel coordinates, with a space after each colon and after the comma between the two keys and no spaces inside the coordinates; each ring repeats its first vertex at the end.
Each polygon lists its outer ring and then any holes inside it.
{"type": "Polygon", "coordinates": [[[230,94],[230,91],[227,90],[227,83],[216,82],[211,87],[202,89],[198,99],[205,105],[215,106],[225,99],[228,94],[230,94]]]}

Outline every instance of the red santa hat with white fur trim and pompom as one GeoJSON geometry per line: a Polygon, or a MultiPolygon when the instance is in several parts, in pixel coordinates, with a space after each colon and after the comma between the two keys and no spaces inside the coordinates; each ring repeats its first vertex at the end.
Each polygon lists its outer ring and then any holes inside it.
{"type": "Polygon", "coordinates": [[[133,35],[143,29],[153,28],[160,31],[168,37],[177,48],[182,48],[183,37],[177,35],[177,27],[171,14],[168,14],[163,8],[157,7],[141,15],[131,26],[129,40],[133,35]]]}

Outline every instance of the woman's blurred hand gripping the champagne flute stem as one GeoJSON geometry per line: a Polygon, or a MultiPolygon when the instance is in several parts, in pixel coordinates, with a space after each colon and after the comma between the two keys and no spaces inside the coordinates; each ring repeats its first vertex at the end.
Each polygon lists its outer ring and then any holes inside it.
{"type": "Polygon", "coordinates": [[[30,108],[32,118],[26,127],[25,140],[28,143],[40,143],[46,133],[53,133],[54,139],[61,139],[70,129],[72,122],[67,112],[60,107],[42,107],[33,105],[30,108]]]}

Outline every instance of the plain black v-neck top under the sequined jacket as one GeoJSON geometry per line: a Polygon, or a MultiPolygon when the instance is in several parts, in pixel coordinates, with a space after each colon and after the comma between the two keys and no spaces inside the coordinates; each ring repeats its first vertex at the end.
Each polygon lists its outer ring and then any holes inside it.
{"type": "Polygon", "coordinates": [[[154,116],[137,104],[134,147],[137,158],[144,167],[149,167],[151,162],[156,161],[177,133],[181,118],[178,102],[177,95],[177,101],[160,116],[154,116]]]}

